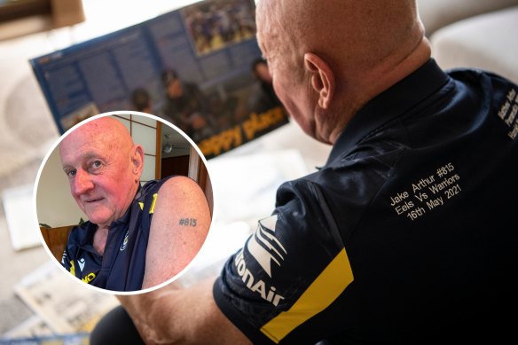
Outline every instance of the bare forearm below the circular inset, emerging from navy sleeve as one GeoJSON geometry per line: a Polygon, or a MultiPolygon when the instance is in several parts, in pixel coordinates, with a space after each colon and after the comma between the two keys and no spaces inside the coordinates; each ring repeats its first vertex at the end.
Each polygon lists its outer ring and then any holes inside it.
{"type": "Polygon", "coordinates": [[[216,306],[214,280],[118,298],[147,344],[250,344],[216,306]]]}

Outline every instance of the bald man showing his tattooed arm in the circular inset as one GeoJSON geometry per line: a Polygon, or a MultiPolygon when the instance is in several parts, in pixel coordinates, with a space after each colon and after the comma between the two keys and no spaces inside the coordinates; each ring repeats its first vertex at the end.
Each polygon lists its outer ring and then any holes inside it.
{"type": "Polygon", "coordinates": [[[122,122],[102,117],[83,124],[63,139],[59,155],[70,192],[89,219],[72,229],[61,262],[75,277],[137,291],[192,261],[210,225],[205,195],[184,176],[141,186],[144,151],[122,122]]]}

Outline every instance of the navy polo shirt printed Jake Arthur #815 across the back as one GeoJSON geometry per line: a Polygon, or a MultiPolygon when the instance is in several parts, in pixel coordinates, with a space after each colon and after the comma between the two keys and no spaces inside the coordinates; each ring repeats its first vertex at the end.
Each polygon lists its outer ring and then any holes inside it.
{"type": "Polygon", "coordinates": [[[517,112],[512,82],[430,59],[357,112],[322,169],[280,186],[224,265],[216,304],[254,343],[509,333],[517,112]]]}

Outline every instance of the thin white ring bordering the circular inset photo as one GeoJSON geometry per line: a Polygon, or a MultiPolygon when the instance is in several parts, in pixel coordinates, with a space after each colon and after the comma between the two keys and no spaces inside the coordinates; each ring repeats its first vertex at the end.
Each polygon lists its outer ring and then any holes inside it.
{"type": "MultiPolygon", "coordinates": [[[[42,241],[42,244],[43,244],[43,247],[45,248],[45,251],[47,252],[47,254],[49,256],[51,256],[51,261],[53,261],[56,265],[59,266],[60,270],[65,272],[67,274],[67,276],[71,279],[73,279],[76,283],[78,284],[81,284],[81,286],[88,286],[98,292],[102,292],[102,293],[107,293],[107,294],[121,294],[121,295],[132,295],[132,294],[145,294],[145,293],[149,293],[149,292],[152,292],[154,290],[158,290],[160,289],[161,287],[164,287],[164,286],[167,286],[169,285],[170,283],[172,283],[173,281],[177,280],[178,278],[182,277],[184,275],[184,273],[186,271],[189,270],[189,268],[192,266],[192,263],[194,263],[194,261],[196,260],[196,258],[200,255],[200,253],[202,253],[203,251],[203,247],[205,247],[207,245],[207,239],[208,239],[208,235],[209,235],[209,232],[212,230],[212,226],[214,224],[214,205],[216,204],[216,196],[214,195],[214,188],[212,187],[212,184],[213,184],[213,181],[210,177],[210,171],[208,171],[208,163],[207,163],[207,159],[205,158],[205,156],[203,155],[203,153],[201,153],[200,151],[200,147],[198,147],[198,145],[196,145],[192,139],[190,137],[188,137],[184,131],[182,129],[179,129],[177,128],[177,126],[175,126],[174,124],[172,124],[171,122],[168,122],[167,120],[164,120],[162,119],[161,117],[158,117],[158,116],[155,116],[155,115],[151,115],[151,114],[145,114],[145,113],[140,113],[140,112],[135,112],[135,111],[125,111],[125,110],[120,110],[120,111],[115,111],[115,112],[107,112],[107,113],[103,113],[103,114],[98,114],[98,115],[95,115],[95,116],[91,116],[90,118],[86,119],[86,120],[83,120],[82,122],[79,122],[77,124],[75,124],[74,127],[72,127],[71,129],[68,129],[63,135],[61,135],[61,137],[58,138],[58,140],[56,140],[56,142],[52,145],[51,149],[49,150],[49,152],[47,152],[47,154],[45,155],[45,157],[43,158],[43,161],[42,161],[42,164],[40,165],[40,169],[38,169],[38,174],[36,176],[36,179],[35,179],[35,186],[34,186],[34,189],[33,189],[33,204],[34,204],[34,212],[35,212],[35,220],[37,222],[39,222],[39,219],[38,219],[38,213],[37,213],[37,200],[36,200],[36,196],[37,196],[37,191],[38,191],[38,184],[40,182],[40,176],[42,175],[42,171],[43,171],[43,168],[45,166],[45,164],[47,163],[47,160],[49,159],[49,157],[51,156],[51,153],[54,152],[54,150],[56,150],[56,148],[58,147],[59,143],[61,143],[61,141],[67,137],[70,133],[72,133],[75,129],[78,129],[79,127],[81,127],[83,124],[85,123],[88,123],[88,122],[91,122],[91,121],[94,121],[94,120],[97,120],[101,117],[106,117],[106,116],[113,116],[113,115],[139,115],[139,116],[144,116],[144,117],[147,117],[147,118],[150,118],[150,119],[153,119],[153,120],[156,120],[158,122],[162,122],[163,124],[165,124],[166,126],[169,126],[170,128],[172,129],[175,129],[177,130],[177,132],[179,134],[182,135],[182,137],[184,137],[188,142],[189,144],[192,145],[192,147],[194,147],[194,149],[196,150],[196,152],[198,153],[198,155],[200,156],[201,158],[201,161],[203,161],[203,164],[205,164],[205,168],[207,169],[207,173],[208,173],[208,178],[210,179],[210,183],[211,183],[211,189],[212,189],[212,200],[213,200],[213,210],[212,210],[212,215],[211,215],[211,221],[210,221],[210,227],[208,229],[208,232],[207,232],[207,236],[205,237],[205,239],[203,240],[203,245],[200,247],[200,250],[198,251],[198,253],[196,253],[196,255],[194,255],[194,257],[192,258],[191,262],[188,263],[184,269],[182,271],[179,271],[177,273],[177,275],[173,276],[172,278],[169,278],[168,280],[162,282],[161,284],[157,285],[157,286],[152,286],[152,287],[148,287],[146,289],[143,289],[143,290],[137,290],[137,291],[114,291],[114,290],[108,290],[108,289],[104,289],[104,288],[101,288],[101,287],[98,287],[98,286],[92,286],[88,283],[85,283],[83,282],[81,279],[79,278],[76,278],[75,276],[73,276],[72,274],[70,274],[69,271],[67,271],[67,269],[65,269],[65,267],[63,267],[61,265],[61,263],[59,262],[59,260],[57,260],[54,255],[52,254],[51,252],[51,249],[49,249],[49,247],[47,246],[45,240],[43,239],[43,234],[42,234],[42,231],[38,231],[39,232],[39,236],[40,236],[40,240],[42,241]]],[[[37,225],[37,229],[39,229],[39,223],[36,223],[37,225]]]]}

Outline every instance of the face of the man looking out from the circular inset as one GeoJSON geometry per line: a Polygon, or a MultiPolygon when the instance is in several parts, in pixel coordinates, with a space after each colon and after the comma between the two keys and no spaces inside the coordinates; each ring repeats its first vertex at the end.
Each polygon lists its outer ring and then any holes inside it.
{"type": "Polygon", "coordinates": [[[76,129],[59,147],[70,191],[91,223],[109,226],[122,217],[134,197],[130,152],[93,129],[76,129]]]}

